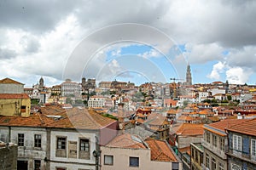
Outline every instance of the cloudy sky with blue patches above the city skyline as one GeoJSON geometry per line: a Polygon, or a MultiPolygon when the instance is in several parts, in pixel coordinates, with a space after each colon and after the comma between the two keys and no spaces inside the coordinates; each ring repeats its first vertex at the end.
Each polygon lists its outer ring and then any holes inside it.
{"type": "Polygon", "coordinates": [[[256,83],[254,0],[0,0],[0,79],[256,83]]]}

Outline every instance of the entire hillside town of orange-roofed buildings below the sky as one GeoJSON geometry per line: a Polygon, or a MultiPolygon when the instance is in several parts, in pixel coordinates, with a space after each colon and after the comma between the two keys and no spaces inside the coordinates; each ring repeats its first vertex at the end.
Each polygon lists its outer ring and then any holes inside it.
{"type": "Polygon", "coordinates": [[[0,169],[255,169],[256,86],[0,80],[0,169]]]}

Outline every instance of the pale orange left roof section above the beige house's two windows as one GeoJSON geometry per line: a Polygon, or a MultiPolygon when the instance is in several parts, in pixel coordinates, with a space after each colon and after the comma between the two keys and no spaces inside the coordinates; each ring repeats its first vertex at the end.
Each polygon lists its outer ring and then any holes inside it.
{"type": "Polygon", "coordinates": [[[106,146],[113,148],[147,149],[142,139],[129,133],[116,136],[106,146]]]}

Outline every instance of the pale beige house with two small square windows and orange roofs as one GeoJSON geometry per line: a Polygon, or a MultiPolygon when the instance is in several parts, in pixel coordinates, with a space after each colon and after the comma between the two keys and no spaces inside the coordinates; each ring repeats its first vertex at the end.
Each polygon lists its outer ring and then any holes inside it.
{"type": "Polygon", "coordinates": [[[143,139],[124,133],[101,146],[104,170],[182,169],[172,149],[164,141],[143,139]]]}

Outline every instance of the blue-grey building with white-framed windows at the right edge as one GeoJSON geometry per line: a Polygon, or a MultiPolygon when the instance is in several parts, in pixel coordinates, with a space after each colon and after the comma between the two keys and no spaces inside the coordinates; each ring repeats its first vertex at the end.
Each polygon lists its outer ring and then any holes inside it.
{"type": "Polygon", "coordinates": [[[256,167],[256,119],[228,127],[228,169],[255,169],[256,167]]]}

